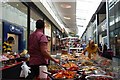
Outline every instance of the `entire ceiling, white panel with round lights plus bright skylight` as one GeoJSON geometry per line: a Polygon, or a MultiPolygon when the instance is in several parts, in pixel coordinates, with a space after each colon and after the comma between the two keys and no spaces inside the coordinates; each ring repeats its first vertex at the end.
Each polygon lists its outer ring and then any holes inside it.
{"type": "Polygon", "coordinates": [[[81,36],[101,0],[51,0],[52,9],[69,32],[81,36]]]}

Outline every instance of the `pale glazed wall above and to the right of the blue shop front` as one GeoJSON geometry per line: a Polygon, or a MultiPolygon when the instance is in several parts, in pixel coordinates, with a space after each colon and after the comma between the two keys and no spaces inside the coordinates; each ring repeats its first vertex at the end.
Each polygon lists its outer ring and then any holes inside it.
{"type": "Polygon", "coordinates": [[[24,49],[27,48],[27,9],[21,2],[2,3],[2,21],[24,29],[24,39],[22,40],[24,49]]]}

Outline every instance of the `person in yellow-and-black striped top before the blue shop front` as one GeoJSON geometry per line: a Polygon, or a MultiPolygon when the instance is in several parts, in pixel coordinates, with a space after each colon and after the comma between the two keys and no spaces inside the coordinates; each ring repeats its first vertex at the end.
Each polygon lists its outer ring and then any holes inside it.
{"type": "Polygon", "coordinates": [[[3,52],[12,52],[12,45],[14,44],[14,41],[14,38],[10,36],[7,41],[3,43],[3,52]]]}

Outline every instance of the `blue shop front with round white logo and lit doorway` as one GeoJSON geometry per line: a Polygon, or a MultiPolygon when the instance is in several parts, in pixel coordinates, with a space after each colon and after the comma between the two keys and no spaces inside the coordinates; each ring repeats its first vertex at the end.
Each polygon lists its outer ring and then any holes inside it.
{"type": "Polygon", "coordinates": [[[13,46],[13,52],[21,52],[25,49],[25,46],[23,45],[23,36],[24,36],[24,30],[20,26],[15,26],[13,24],[10,24],[8,22],[3,22],[3,31],[4,31],[4,39],[3,42],[7,40],[8,37],[12,36],[15,39],[14,46],[13,46]]]}

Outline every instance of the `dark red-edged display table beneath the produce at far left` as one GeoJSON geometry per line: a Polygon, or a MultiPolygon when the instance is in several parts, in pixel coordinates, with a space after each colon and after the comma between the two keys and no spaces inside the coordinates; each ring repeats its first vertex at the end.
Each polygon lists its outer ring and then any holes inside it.
{"type": "MultiPolygon", "coordinates": [[[[12,59],[14,61],[7,60],[6,63],[1,62],[1,67],[0,67],[0,79],[2,80],[23,80],[21,79],[20,72],[21,72],[21,66],[23,62],[26,62],[26,58],[19,58],[19,59],[12,59]]],[[[26,62],[27,65],[29,62],[26,62]]]]}

